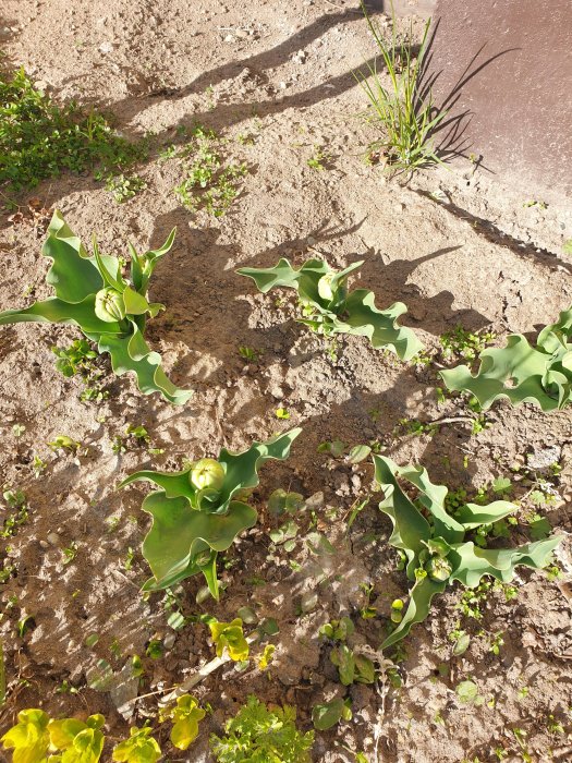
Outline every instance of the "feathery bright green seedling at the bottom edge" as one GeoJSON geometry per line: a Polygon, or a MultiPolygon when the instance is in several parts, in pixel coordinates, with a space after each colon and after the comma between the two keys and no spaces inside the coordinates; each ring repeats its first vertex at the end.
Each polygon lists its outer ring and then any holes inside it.
{"type": "Polygon", "coordinates": [[[302,734],[290,705],[269,710],[256,697],[227,722],[224,736],[210,737],[217,763],[309,763],[314,731],[302,734]]]}

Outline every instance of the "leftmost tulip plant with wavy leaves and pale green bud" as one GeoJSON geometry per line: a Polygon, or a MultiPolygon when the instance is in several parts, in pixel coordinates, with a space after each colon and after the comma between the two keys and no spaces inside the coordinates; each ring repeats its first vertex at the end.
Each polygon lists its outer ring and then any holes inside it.
{"type": "Polygon", "coordinates": [[[48,228],[42,254],[53,261],[46,278],[56,296],[35,302],[24,310],[0,313],[0,325],[21,322],[75,324],[98,351],[109,352],[115,374],[134,372],[144,395],[160,392],[181,405],[192,391],[179,389],[165,374],[161,356],[145,339],[147,317],[155,317],[165,305],[147,301],[147,288],[155,266],[173,245],[174,230],[165,244],[137,254],[130,244],[131,275],[123,277],[121,261],[101,255],[94,238],[94,256],[88,256],[60,211],[48,228]]]}

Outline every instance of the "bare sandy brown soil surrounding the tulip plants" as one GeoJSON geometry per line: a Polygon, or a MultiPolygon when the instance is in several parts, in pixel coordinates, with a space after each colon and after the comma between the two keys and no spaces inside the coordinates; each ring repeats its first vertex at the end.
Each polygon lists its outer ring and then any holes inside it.
{"type": "MultiPolygon", "coordinates": [[[[435,482],[468,493],[499,476],[513,480],[511,467],[526,463],[531,453],[538,463],[543,453],[556,453],[552,460],[562,468],[551,477],[557,497],[543,512],[565,541],[558,550],[563,577],[521,569],[518,596],[507,601],[501,590],[491,591],[482,621],[459,610],[460,589],[438,598],[427,621],[404,642],[402,688],[352,687],[353,719],[316,734],[314,760],[353,761],[352,751],[365,751],[368,760],[384,762],[495,761],[501,754],[508,761],[571,760],[569,413],[500,403],[476,435],[463,421],[407,433],[402,420],[467,415],[460,399],[438,404],[435,387],[442,385],[435,366],[400,363],[357,337],[343,338],[333,359],[321,339],[293,322],[292,299],[276,306],[273,296],[255,293],[234,272],[246,264],[271,266],[280,256],[300,265],[316,251],[333,266],[364,258],[354,286],[375,291],[380,307],[405,302],[403,322],[428,348],[437,349],[439,337],[459,324],[492,330],[499,342],[510,331],[532,337],[571,302],[571,267],[559,256],[562,241],[571,238],[570,211],[525,207],[531,201],[525,191],[506,192],[468,161],[453,171],[425,172],[409,185],[387,181],[380,168],[364,164],[375,133],[356,117],[364,97],[352,70],[374,47],[354,2],[2,0],[0,9],[10,65],[24,65],[54,97],[107,109],[124,135],[153,131],[156,145],[177,142],[181,125],[202,123],[250,167],[240,197],[218,219],[180,205],[172,193],[180,167],[161,161],[157,152],[138,170],[146,190],[124,204],[90,177],[65,175],[34,192],[46,207],[61,209],[85,242],[96,231],[101,250],[110,253],[124,251],[127,240],[139,250],[160,244],[178,227],[174,249],[153,284],[153,299],[166,303],[167,312],[151,324],[148,338],[173,380],[196,391],[179,409],[157,396],[143,397],[133,379],[109,374],[109,399],[82,402],[82,384],[56,371],[50,350],[78,338],[77,331],[1,329],[1,482],[25,492],[31,512],[17,534],[2,541],[4,567],[14,572],[0,586],[11,688],[0,731],[17,710],[41,705],[53,715],[104,713],[118,738],[130,723],[141,725],[153,715],[156,697],[132,704],[132,717],[120,714],[117,706],[125,699],[120,690],[89,688],[98,659],[110,663],[125,688],[121,670],[132,655],[142,655],[143,694],[180,682],[212,656],[204,626],[175,633],[167,626],[163,597],[143,601],[144,489],[118,493],[115,485],[139,468],[177,469],[184,458],[216,456],[224,445],[242,449],[254,438],[300,425],[304,432],[291,459],[263,468],[255,492],[260,521],[229,552],[228,569],[221,565],[228,588],[220,604],[195,603],[197,578],[185,581],[181,593],[187,615],[209,611],[229,620],[247,605],[277,618],[276,659],[264,674],[231,666],[200,683],[196,694],[214,713],[188,753],[174,753],[167,731],[158,732],[170,760],[211,760],[208,732],[220,731],[248,693],[296,705],[300,724],[311,728],[312,706],[343,690],[318,639],[319,626],[350,614],[357,642],[377,649],[391,601],[405,595],[404,574],[394,570],[387,544],[389,522],[376,500],[346,533],[349,509],[372,494],[373,474],[367,462],[352,468],[317,453],[321,441],[332,439],[351,446],[376,440],[399,463],[421,462],[435,482]],[[248,140],[241,143],[240,135],[248,140]],[[321,171],[307,165],[315,146],[329,156],[321,171]],[[241,346],[259,351],[258,360],[245,363],[241,346]],[[279,407],[288,409],[290,421],[276,419],[279,407]],[[113,437],[127,423],[144,425],[151,445],[165,452],[114,452],[113,437]],[[14,424],[26,427],[20,437],[14,424]],[[80,441],[78,453],[50,451],[47,443],[58,435],[80,441]],[[39,479],[35,455],[48,464],[39,479]],[[275,561],[267,557],[276,520],[265,501],[277,487],[314,496],[315,518],[306,510],[297,519],[295,549],[275,561]],[[334,555],[311,554],[305,533],[316,528],[334,555]],[[72,544],[75,556],[64,564],[63,549],[72,544]],[[374,586],[373,619],[360,617],[361,584],[374,586]],[[313,590],[317,605],[301,615],[301,596],[313,590]],[[33,622],[20,638],[16,621],[25,615],[33,622]],[[453,658],[449,634],[459,620],[474,638],[453,658]],[[504,644],[497,655],[489,647],[499,632],[504,644]],[[86,645],[94,633],[97,643],[86,645]],[[154,638],[167,638],[158,659],[145,656],[154,638]],[[483,703],[460,702],[455,687],[464,679],[476,682],[483,703]],[[77,693],[65,690],[70,687],[77,693]],[[530,759],[514,729],[524,730],[530,759]]],[[[423,22],[412,20],[419,31],[423,22]]],[[[11,225],[8,213],[0,228],[0,308],[48,295],[44,231],[11,225]]],[[[531,473],[543,474],[541,465],[531,473]]],[[[516,497],[528,489],[515,484],[516,497]]],[[[522,541],[519,530],[513,542],[522,541]]],[[[133,682],[127,697],[130,690],[133,682]]]]}

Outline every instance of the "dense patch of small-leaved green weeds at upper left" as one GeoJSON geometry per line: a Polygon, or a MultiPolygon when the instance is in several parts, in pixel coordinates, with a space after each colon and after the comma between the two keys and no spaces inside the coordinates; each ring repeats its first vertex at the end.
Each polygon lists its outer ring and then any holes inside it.
{"type": "Polygon", "coordinates": [[[23,69],[0,73],[0,186],[9,193],[65,170],[117,173],[145,155],[144,143],[118,135],[102,114],[56,104],[23,69]]]}

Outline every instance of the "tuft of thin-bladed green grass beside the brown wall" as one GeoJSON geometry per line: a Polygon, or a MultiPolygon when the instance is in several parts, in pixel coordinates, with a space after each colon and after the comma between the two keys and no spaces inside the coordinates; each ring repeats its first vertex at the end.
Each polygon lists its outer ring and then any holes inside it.
{"type": "MultiPolygon", "coordinates": [[[[415,55],[416,46],[413,45],[411,26],[405,39],[398,41],[393,17],[391,45],[388,46],[380,29],[368,16],[363,1],[362,10],[380,52],[380,57],[377,57],[373,64],[366,64],[365,72],[357,71],[354,74],[369,99],[375,120],[385,132],[382,138],[370,145],[370,155],[382,150],[388,167],[394,172],[443,164],[434,148],[431,133],[445,119],[447,111],[438,111],[430,87],[424,88],[421,85],[430,20],[425,26],[418,52],[415,55]],[[384,86],[378,72],[379,58],[389,74],[387,87],[384,86]]],[[[370,114],[370,111],[367,113],[370,114]]]]}

